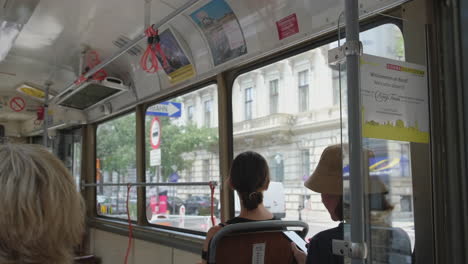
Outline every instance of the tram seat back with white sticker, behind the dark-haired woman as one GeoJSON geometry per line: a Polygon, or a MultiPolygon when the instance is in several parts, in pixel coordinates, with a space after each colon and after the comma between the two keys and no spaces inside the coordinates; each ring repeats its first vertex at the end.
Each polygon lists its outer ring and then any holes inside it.
{"type": "Polygon", "coordinates": [[[302,238],[309,230],[309,226],[300,221],[274,220],[227,225],[211,239],[208,263],[294,263],[291,242],[282,232],[290,228],[299,229],[298,234],[302,238]]]}

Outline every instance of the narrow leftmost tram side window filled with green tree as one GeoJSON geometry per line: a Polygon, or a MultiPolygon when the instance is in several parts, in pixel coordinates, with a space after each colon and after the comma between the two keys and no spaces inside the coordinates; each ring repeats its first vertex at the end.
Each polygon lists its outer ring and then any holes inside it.
{"type": "MultiPolygon", "coordinates": [[[[100,183],[136,182],[135,113],[100,124],[96,132],[96,203],[101,216],[127,219],[127,186],[100,183]]],[[[130,189],[130,217],[137,217],[137,188],[130,189]]]]}

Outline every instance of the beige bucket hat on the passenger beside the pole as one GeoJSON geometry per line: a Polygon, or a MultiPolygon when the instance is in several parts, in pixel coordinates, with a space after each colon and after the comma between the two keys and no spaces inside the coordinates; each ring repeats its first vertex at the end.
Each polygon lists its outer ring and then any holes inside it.
{"type": "MultiPolygon", "coordinates": [[[[348,145],[343,145],[343,148],[347,147],[348,145]]],[[[367,156],[374,157],[374,153],[367,150],[367,156]]],[[[304,186],[318,193],[343,194],[343,151],[341,144],[325,148],[317,168],[304,182],[304,186]]],[[[370,177],[367,193],[387,194],[388,189],[378,177],[370,177]]]]}

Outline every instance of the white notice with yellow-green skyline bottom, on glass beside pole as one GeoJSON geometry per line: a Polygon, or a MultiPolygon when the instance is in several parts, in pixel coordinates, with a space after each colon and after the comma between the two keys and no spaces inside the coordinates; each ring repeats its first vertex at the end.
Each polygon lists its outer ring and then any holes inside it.
{"type": "Polygon", "coordinates": [[[361,56],[363,136],[429,142],[425,66],[361,56]]]}

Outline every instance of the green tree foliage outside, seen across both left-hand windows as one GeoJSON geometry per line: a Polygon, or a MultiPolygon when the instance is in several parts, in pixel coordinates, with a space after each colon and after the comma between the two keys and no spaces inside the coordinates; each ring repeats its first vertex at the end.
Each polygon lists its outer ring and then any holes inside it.
{"type": "MultiPolygon", "coordinates": [[[[161,120],[161,175],[160,181],[175,171],[183,171],[192,166],[192,161],[182,157],[184,153],[196,150],[218,151],[218,133],[216,128],[198,128],[194,124],[181,126],[176,119],[159,117],[161,120]]],[[[152,174],[155,167],[150,167],[150,129],[152,118],[145,122],[146,167],[152,174]]],[[[101,160],[101,170],[125,173],[126,169],[136,165],[136,121],[135,114],[129,114],[102,125],[97,129],[97,158],[101,160]]]]}

